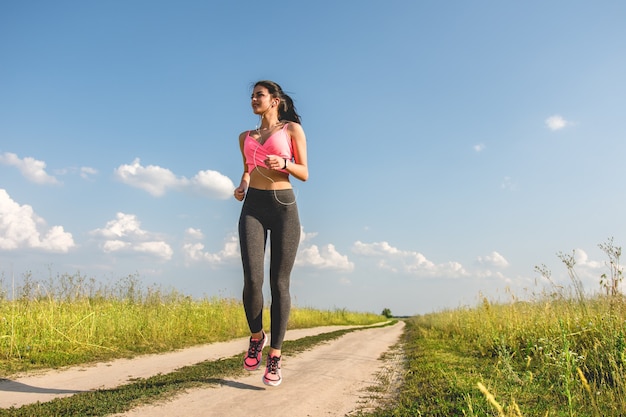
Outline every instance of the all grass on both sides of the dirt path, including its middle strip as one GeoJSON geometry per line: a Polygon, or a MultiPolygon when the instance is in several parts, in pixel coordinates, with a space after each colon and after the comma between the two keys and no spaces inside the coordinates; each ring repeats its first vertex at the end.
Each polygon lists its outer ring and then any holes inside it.
{"type": "MultiPolygon", "coordinates": [[[[582,288],[574,256],[560,254],[571,278],[566,288],[552,285],[529,301],[512,296],[509,303],[495,303],[484,298],[473,307],[406,319],[399,346],[405,359],[402,382],[378,410],[360,415],[625,416],[626,298],[619,290],[621,248],[612,241],[600,247],[609,256],[609,273],[599,277],[601,291],[594,295],[582,288]]],[[[544,266],[537,271],[547,283],[552,282],[544,266]]],[[[47,283],[26,277],[24,282],[12,298],[6,289],[0,290],[4,374],[167,351],[248,333],[238,301],[198,300],[143,289],[132,276],[111,288],[96,288],[80,275],[55,277],[47,283]]],[[[371,324],[383,319],[377,314],[295,308],[290,327],[371,324]]],[[[310,347],[317,342],[294,342],[294,347],[295,343],[310,347]]],[[[196,372],[235,372],[239,362],[240,358],[231,358],[191,367],[184,371],[188,374],[155,378],[193,381],[196,372]]],[[[159,379],[154,384],[178,389],[177,382],[159,379]]],[[[39,407],[36,411],[0,410],[0,415],[57,415],[57,406],[83,410],[94,401],[102,404],[98,412],[102,414],[93,415],[105,415],[107,404],[130,407],[144,393],[161,395],[146,391],[144,385],[125,387],[128,400],[117,392],[103,392],[33,406],[39,407]]],[[[83,415],[83,411],[76,412],[83,415]]]]}

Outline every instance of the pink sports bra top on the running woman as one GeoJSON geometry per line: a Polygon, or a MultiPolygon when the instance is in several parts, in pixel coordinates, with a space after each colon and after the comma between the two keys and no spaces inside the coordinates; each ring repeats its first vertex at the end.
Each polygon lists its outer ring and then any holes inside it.
{"type": "MultiPolygon", "coordinates": [[[[243,153],[246,156],[248,172],[252,172],[257,166],[266,168],[265,159],[267,159],[268,155],[278,155],[291,161],[293,158],[293,145],[291,137],[287,134],[287,123],[285,123],[282,129],[277,130],[265,139],[263,144],[250,136],[250,131],[248,131],[243,142],[243,153]]],[[[289,174],[285,169],[279,171],[289,174]]]]}

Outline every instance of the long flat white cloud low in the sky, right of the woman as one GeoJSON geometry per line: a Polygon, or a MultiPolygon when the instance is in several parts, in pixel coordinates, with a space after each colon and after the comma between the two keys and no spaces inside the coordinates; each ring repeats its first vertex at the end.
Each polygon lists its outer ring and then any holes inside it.
{"type": "Polygon", "coordinates": [[[392,272],[404,272],[418,277],[457,278],[468,275],[463,265],[458,262],[435,264],[419,252],[400,250],[387,242],[357,241],[352,251],[358,255],[378,258],[378,267],[392,272]]]}

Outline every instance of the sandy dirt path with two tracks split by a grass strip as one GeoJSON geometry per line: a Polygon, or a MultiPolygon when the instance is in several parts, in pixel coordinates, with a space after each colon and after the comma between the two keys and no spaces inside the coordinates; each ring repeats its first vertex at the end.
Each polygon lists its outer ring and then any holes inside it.
{"type": "MultiPolygon", "coordinates": [[[[344,416],[368,396],[363,390],[376,384],[383,367],[379,357],[398,341],[404,323],[348,333],[310,351],[289,357],[285,352],[284,382],[270,388],[261,382],[262,370],[224,380],[214,388],[182,393],[174,399],[139,407],[125,416],[344,416]],[[267,412],[267,407],[272,411],[267,412]],[[262,412],[261,410],[265,410],[262,412]]],[[[286,340],[334,331],[341,326],[292,330],[286,340]]],[[[131,379],[171,372],[186,365],[243,353],[247,339],[215,343],[177,352],[116,360],[87,367],[0,380],[0,408],[113,388],[131,379]]]]}

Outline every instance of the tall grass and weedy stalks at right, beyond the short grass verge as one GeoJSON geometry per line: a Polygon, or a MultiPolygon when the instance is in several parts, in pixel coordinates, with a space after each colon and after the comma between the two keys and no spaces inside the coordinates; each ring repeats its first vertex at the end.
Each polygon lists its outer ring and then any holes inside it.
{"type": "MultiPolygon", "coordinates": [[[[493,305],[485,299],[481,307],[457,317],[453,326],[462,334],[476,334],[471,343],[478,352],[498,359],[497,370],[506,383],[495,389],[505,388],[511,398],[549,392],[550,402],[559,404],[558,412],[552,410],[554,415],[626,415],[621,248],[612,239],[599,247],[609,259],[609,274],[600,277],[603,292],[599,294],[586,295],[576,273],[575,254],[559,253],[570,287],[553,284],[551,291],[531,303],[493,305]]],[[[537,270],[552,282],[545,266],[537,270]]],[[[508,414],[500,411],[499,415],[522,415],[519,406],[512,404],[508,414]]]]}

